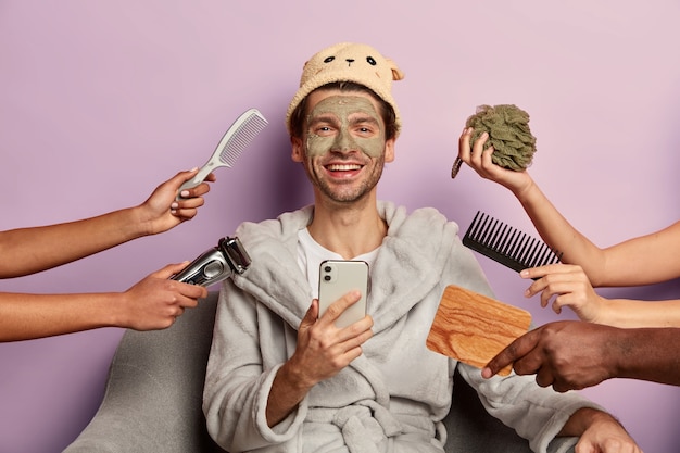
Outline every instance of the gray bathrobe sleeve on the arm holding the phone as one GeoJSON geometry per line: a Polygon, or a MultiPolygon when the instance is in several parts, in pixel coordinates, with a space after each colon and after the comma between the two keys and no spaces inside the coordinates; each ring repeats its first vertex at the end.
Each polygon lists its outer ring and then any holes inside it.
{"type": "Polygon", "coordinates": [[[249,451],[297,441],[305,401],[274,428],[267,426],[265,414],[278,364],[285,362],[277,355],[285,357],[286,335],[290,334],[280,319],[262,310],[251,295],[229,280],[223,284],[203,391],[207,430],[223,449],[249,451]],[[268,330],[272,343],[262,345],[265,352],[261,352],[259,331],[266,324],[273,327],[268,330]],[[267,369],[265,362],[277,365],[267,369]]]}

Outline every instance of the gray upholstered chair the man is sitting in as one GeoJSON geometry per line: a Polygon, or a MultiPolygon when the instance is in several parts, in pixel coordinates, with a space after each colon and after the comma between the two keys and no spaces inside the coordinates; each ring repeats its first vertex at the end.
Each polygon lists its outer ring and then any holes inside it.
{"type": "MultiPolygon", "coordinates": [[[[223,452],[207,435],[201,410],[216,302],[211,292],[165,330],[127,330],[101,406],[64,453],[223,452]]],[[[454,389],[446,452],[530,452],[525,439],[487,414],[463,379],[454,389]]]]}

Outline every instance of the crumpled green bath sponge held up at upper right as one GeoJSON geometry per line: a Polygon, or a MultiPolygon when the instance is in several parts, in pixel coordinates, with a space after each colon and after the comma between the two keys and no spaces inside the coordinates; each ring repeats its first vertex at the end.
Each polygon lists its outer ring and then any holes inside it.
{"type": "Polygon", "coordinates": [[[516,105],[480,105],[465,124],[474,129],[470,146],[483,133],[489,134],[484,149],[493,146],[494,164],[516,172],[531,165],[536,137],[529,129],[529,114],[516,105]]]}

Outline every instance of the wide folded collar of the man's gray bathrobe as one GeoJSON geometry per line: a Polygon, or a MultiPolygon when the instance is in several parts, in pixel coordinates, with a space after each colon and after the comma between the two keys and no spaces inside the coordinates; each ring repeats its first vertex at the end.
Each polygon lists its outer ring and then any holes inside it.
{"type": "MultiPolygon", "coordinates": [[[[378,212],[389,229],[372,275],[389,278],[372,278],[370,282],[368,313],[376,332],[391,326],[420,302],[441,280],[445,265],[455,267],[450,261],[458,255],[452,254],[451,249],[454,241],[459,242],[457,224],[448,222],[435,209],[421,209],[408,215],[404,207],[378,202],[378,212]],[[403,301],[396,306],[389,303],[395,294],[403,301]]],[[[312,292],[306,277],[291,263],[297,263],[298,231],[312,222],[313,213],[313,206],[306,206],[285,213],[278,219],[245,223],[236,232],[249,253],[256,256],[244,276],[234,277],[236,285],[295,329],[310,307],[312,292]]],[[[469,272],[466,266],[458,267],[461,272],[469,272]]],[[[479,273],[479,280],[481,269],[477,267],[474,273],[479,273]]],[[[475,286],[489,292],[488,287],[475,286]]]]}

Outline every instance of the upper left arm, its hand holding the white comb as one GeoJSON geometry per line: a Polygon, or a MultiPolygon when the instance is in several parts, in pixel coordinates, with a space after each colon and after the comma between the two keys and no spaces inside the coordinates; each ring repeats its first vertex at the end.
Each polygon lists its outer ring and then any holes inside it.
{"type": "MultiPolygon", "coordinates": [[[[58,225],[0,231],[0,278],[20,277],[71,263],[143,236],[167,231],[193,218],[210,186],[202,183],[175,201],[198,171],[180,172],[140,205],[58,225]]],[[[206,178],[215,180],[214,175],[206,178]]]]}

